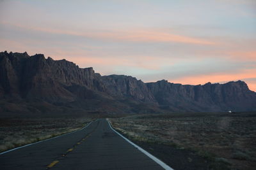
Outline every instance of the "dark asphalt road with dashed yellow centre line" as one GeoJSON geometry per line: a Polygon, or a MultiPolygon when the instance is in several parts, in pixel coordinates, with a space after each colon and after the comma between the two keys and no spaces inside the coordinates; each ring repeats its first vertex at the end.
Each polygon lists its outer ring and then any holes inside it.
{"type": "Polygon", "coordinates": [[[0,169],[163,169],[105,119],[81,131],[0,155],[0,169]]]}

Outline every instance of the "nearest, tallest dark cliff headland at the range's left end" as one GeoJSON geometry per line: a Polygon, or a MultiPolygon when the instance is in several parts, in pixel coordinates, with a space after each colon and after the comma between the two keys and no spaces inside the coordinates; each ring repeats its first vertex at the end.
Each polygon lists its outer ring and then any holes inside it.
{"type": "Polygon", "coordinates": [[[45,59],[44,55],[31,57],[27,53],[0,53],[1,97],[21,97],[23,99],[43,99],[47,102],[65,102],[86,95],[86,90],[104,90],[100,75],[92,67],[81,69],[67,60],[45,59]],[[77,85],[79,87],[77,87],[77,85]],[[81,96],[82,95],[82,96],[81,96]]]}

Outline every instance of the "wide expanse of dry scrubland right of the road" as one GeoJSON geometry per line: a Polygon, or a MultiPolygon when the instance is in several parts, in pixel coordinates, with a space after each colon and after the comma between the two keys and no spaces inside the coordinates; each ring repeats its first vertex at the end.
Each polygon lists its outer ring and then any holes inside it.
{"type": "MultiPolygon", "coordinates": [[[[158,156],[166,163],[172,154],[189,152],[184,153],[187,158],[183,162],[200,162],[196,155],[205,159],[207,169],[256,167],[256,113],[133,115],[110,121],[116,130],[145,146],[148,152],[164,152],[158,156]]],[[[199,166],[195,169],[200,169],[199,166]]]]}

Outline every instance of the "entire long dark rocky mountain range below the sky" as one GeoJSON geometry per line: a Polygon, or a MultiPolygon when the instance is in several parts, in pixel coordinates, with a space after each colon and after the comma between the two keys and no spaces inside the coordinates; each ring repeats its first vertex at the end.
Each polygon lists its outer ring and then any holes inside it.
{"type": "Polygon", "coordinates": [[[244,81],[144,83],[132,76],[100,76],[92,67],[82,69],[43,54],[1,52],[0,104],[6,114],[252,111],[256,93],[244,81]]]}

